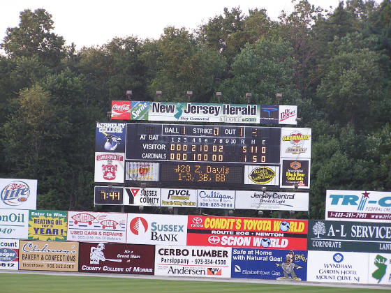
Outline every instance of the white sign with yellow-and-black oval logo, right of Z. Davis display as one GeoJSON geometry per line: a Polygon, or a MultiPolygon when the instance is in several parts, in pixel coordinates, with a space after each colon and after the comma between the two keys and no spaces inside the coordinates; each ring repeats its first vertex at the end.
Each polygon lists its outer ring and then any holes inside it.
{"type": "Polygon", "coordinates": [[[279,186],[279,166],[244,166],[244,184],[279,186]]]}

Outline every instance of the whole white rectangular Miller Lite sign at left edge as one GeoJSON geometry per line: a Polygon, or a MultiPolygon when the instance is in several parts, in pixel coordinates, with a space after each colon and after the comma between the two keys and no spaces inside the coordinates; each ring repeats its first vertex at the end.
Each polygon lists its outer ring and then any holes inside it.
{"type": "Polygon", "coordinates": [[[37,181],[0,178],[0,209],[36,209],[37,181]]]}

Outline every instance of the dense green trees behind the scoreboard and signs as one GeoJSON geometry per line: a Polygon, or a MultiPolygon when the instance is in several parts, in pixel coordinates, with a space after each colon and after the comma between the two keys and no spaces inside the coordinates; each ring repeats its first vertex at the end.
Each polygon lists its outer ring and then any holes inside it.
{"type": "MultiPolygon", "coordinates": [[[[325,190],[391,190],[391,3],[346,0],[323,11],[307,0],[274,22],[266,10],[224,9],[197,31],[158,40],[75,45],[52,15],[24,10],[0,43],[0,176],[38,179],[38,208],[93,209],[94,127],[110,101],[299,106],[312,128],[310,217],[325,190]]],[[[132,32],[129,32],[132,35],[132,32]]],[[[299,215],[303,216],[303,215],[299,215]]]]}

